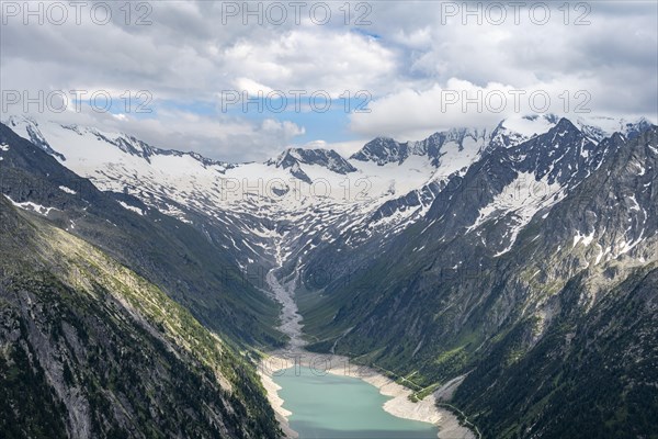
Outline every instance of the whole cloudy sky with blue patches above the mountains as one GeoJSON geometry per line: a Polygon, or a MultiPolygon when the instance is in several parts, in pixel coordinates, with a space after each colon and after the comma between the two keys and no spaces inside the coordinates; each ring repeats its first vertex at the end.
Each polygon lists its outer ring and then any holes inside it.
{"type": "Polygon", "coordinates": [[[514,113],[657,122],[658,2],[518,3],[3,1],[2,116],[41,92],[49,119],[235,161],[514,113]]]}

